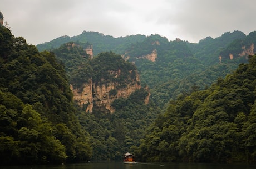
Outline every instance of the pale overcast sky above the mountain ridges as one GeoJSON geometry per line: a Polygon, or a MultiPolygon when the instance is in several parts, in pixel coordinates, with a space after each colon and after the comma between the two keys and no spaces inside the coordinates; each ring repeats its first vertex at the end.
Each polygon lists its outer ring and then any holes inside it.
{"type": "Polygon", "coordinates": [[[256,30],[255,0],[0,0],[0,11],[14,36],[34,45],[83,30],[196,43],[228,31],[256,30]]]}

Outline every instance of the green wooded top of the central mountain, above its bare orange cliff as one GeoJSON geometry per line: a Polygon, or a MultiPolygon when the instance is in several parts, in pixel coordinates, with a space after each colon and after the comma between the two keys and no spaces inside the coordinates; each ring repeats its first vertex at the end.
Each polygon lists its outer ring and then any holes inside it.
{"type": "Polygon", "coordinates": [[[136,77],[135,65],[125,62],[121,55],[114,52],[102,52],[92,59],[88,59],[88,55],[80,44],[73,42],[63,44],[53,52],[65,65],[68,79],[76,88],[82,88],[82,85],[88,83],[89,79],[99,85],[109,81],[125,85],[130,74],[132,75],[131,79],[136,77]],[[75,45],[70,47],[70,44],[75,45]],[[119,72],[120,75],[116,76],[111,73],[112,71],[119,72]]]}

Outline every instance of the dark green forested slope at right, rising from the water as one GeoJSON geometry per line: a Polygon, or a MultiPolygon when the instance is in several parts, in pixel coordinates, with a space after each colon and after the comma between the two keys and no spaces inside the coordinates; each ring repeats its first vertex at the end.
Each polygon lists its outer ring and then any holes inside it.
{"type": "Polygon", "coordinates": [[[256,55],[207,90],[172,101],[135,154],[147,161],[256,162],[256,55]]]}

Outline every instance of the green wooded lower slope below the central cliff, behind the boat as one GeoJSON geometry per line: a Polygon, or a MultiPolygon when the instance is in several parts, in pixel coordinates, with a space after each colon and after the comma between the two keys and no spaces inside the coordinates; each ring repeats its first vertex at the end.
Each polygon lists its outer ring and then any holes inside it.
{"type": "Polygon", "coordinates": [[[112,114],[93,111],[78,115],[81,125],[92,136],[93,159],[121,160],[124,152],[140,145],[146,128],[160,113],[153,103],[145,105],[141,101],[145,94],[147,91],[140,89],[127,99],[116,99],[112,104],[116,111],[112,114]]]}

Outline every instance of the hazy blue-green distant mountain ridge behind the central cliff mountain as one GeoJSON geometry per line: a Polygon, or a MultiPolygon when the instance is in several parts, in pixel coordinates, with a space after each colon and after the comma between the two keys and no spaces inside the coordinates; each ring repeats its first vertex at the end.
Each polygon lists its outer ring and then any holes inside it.
{"type": "Polygon", "coordinates": [[[57,38],[37,47],[50,49],[56,43],[78,40],[76,43],[82,48],[92,44],[95,54],[106,50],[121,54],[135,63],[142,85],[150,88],[151,99],[157,106],[164,107],[169,100],[193,90],[194,86],[207,88],[219,77],[232,73],[239,63],[247,63],[247,55],[254,53],[254,34],[246,36],[234,31],[215,39],[206,37],[199,43],[189,43],[180,39],[169,41],[157,34],[113,38],[97,32],[83,32],[76,37],[57,38]],[[232,48],[234,43],[236,46],[232,48]]]}

